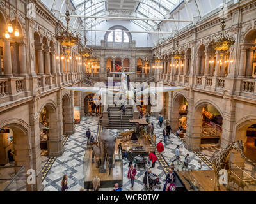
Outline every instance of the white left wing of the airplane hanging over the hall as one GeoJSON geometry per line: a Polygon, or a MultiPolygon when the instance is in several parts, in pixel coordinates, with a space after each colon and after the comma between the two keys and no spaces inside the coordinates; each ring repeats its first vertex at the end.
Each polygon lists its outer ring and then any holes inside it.
{"type": "Polygon", "coordinates": [[[102,87],[65,87],[65,89],[72,90],[72,91],[81,91],[81,92],[88,92],[92,94],[113,94],[115,92],[120,92],[120,90],[116,89],[108,89],[102,87]]]}

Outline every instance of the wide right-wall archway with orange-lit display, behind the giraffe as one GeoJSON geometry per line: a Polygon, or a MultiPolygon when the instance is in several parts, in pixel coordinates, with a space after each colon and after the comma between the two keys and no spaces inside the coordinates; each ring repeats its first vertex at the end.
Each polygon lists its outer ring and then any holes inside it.
{"type": "Polygon", "coordinates": [[[206,103],[196,108],[194,123],[200,124],[200,129],[194,131],[198,131],[201,145],[221,142],[223,117],[214,105],[206,103]]]}

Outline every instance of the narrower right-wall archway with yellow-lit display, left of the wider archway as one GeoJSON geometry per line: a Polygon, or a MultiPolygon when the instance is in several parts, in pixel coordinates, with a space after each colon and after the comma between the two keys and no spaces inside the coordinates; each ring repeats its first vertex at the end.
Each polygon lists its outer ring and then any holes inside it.
{"type": "Polygon", "coordinates": [[[177,131],[182,128],[184,136],[186,136],[188,115],[188,101],[183,95],[177,96],[173,100],[172,106],[172,129],[177,131]]]}

